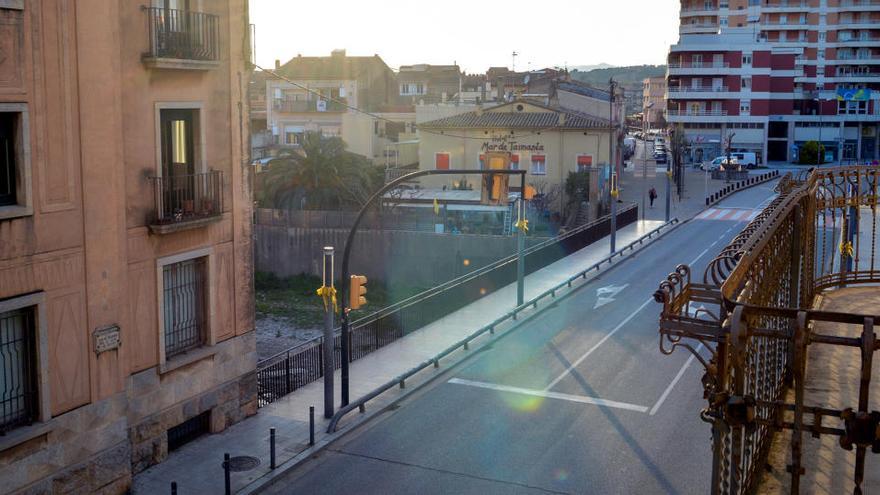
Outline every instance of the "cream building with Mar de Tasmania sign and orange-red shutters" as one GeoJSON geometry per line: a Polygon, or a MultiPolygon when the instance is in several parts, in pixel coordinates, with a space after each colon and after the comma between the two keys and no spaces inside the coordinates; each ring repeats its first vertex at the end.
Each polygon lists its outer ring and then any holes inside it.
{"type": "MultiPolygon", "coordinates": [[[[511,167],[526,170],[528,185],[538,193],[556,192],[551,210],[565,210],[563,191],[570,172],[591,174],[591,219],[607,206],[611,172],[607,119],[517,100],[425,122],[419,130],[420,170],[480,170],[486,153],[508,152],[511,167]]],[[[420,180],[420,187],[455,189],[463,183],[478,188],[480,177],[428,176],[420,180]]],[[[518,187],[513,180],[511,190],[518,191],[518,187]]]]}

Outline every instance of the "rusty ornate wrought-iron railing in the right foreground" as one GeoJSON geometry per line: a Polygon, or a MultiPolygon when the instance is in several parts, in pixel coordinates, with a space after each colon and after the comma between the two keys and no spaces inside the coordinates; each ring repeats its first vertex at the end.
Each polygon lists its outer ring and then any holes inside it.
{"type": "Polygon", "coordinates": [[[702,282],[680,265],[655,293],[663,304],[660,350],[687,349],[706,370],[700,417],[712,425],[711,493],[753,490],[781,430],[792,432],[791,493],[800,492],[804,433],[855,447],[854,493],[862,493],[865,454],[880,447],[880,413],[868,410],[880,316],[814,305],[823,291],[880,282],[878,179],[877,167],[784,177],[778,197],[709,264],[702,282]],[[858,336],[821,333],[828,323],[856,325],[858,336]],[[811,345],[862,350],[858,404],[805,403],[811,345]]]}

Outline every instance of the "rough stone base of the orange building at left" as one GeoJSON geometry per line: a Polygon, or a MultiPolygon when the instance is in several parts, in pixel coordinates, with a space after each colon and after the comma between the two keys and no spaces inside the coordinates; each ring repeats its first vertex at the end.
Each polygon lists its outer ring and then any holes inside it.
{"type": "Polygon", "coordinates": [[[254,333],[212,349],[174,371],[134,374],[123,393],[0,437],[0,491],[125,493],[133,475],[165,460],[169,428],[210,411],[216,433],[256,414],[254,333]],[[28,439],[16,443],[16,436],[28,439]]]}

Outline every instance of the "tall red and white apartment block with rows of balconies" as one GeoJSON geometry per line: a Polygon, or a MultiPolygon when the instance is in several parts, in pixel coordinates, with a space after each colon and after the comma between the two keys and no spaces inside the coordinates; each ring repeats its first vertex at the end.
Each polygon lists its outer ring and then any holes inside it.
{"type": "Polygon", "coordinates": [[[729,141],[796,161],[812,140],[828,161],[880,158],[880,0],[682,0],[680,35],[667,120],[692,159],[729,141]]]}

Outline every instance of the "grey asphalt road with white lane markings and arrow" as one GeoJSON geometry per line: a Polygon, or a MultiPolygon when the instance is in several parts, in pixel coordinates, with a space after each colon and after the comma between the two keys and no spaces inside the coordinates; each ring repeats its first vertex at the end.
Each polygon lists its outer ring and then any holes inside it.
{"type": "Polygon", "coordinates": [[[701,278],[772,186],[655,242],[267,493],[708,493],[703,370],[660,353],[651,295],[678,263],[701,278]]]}

